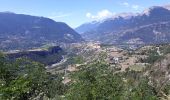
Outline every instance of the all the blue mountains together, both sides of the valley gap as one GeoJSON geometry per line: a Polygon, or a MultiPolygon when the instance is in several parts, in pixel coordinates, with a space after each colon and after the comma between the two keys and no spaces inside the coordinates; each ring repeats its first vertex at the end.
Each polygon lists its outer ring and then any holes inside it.
{"type": "Polygon", "coordinates": [[[117,14],[85,23],[75,30],[63,22],[45,17],[0,12],[0,50],[30,49],[50,43],[84,40],[105,44],[169,43],[170,6],[154,6],[136,14],[117,14]]]}

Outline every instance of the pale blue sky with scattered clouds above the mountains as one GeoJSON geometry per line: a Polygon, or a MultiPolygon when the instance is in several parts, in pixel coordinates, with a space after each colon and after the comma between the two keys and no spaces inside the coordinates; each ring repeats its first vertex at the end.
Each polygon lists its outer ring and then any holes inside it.
{"type": "Polygon", "coordinates": [[[119,13],[140,13],[151,6],[167,4],[170,0],[0,0],[0,12],[48,17],[76,28],[119,13]]]}

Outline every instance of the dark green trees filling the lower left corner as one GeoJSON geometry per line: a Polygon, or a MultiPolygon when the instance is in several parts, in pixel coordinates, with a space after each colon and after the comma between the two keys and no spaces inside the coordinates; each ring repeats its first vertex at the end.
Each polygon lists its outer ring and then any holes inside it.
{"type": "Polygon", "coordinates": [[[0,98],[27,100],[47,96],[62,95],[63,84],[59,75],[46,72],[42,64],[18,59],[9,62],[0,57],[0,98]]]}

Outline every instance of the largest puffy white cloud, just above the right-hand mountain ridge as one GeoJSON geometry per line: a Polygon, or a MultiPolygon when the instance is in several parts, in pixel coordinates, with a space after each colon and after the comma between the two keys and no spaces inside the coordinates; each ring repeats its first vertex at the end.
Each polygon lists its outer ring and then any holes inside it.
{"type": "Polygon", "coordinates": [[[91,19],[94,19],[94,20],[102,20],[102,19],[105,19],[105,18],[112,17],[114,15],[115,15],[115,13],[112,13],[107,9],[99,11],[96,15],[93,15],[90,12],[86,13],[87,18],[91,18],[91,19]]]}

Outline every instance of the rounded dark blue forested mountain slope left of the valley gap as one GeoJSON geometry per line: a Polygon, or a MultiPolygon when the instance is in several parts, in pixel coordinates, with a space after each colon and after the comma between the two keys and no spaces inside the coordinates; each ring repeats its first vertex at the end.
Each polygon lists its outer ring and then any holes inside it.
{"type": "Polygon", "coordinates": [[[67,24],[49,18],[14,13],[0,13],[0,47],[27,48],[45,43],[70,43],[83,39],[67,24]]]}

